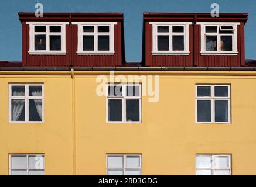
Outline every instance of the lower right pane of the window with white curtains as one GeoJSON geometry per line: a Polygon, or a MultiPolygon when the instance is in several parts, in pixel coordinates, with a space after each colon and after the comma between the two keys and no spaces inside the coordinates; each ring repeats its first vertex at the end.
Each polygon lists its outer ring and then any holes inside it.
{"type": "Polygon", "coordinates": [[[29,121],[40,122],[42,121],[43,113],[42,99],[29,99],[29,121]]]}

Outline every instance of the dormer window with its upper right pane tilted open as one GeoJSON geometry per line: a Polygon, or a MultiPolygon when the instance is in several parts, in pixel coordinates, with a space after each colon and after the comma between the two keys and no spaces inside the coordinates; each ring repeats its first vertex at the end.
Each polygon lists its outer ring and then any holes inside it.
{"type": "Polygon", "coordinates": [[[237,25],[240,23],[198,23],[201,25],[202,54],[237,55],[237,25]]]}

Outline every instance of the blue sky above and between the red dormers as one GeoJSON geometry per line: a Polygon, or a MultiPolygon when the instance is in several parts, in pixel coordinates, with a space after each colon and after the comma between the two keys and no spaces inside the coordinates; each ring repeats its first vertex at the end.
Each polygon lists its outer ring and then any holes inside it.
{"type": "MultiPolygon", "coordinates": [[[[18,12],[35,12],[37,0],[1,0],[0,60],[21,61],[21,23],[18,12]]],[[[249,13],[245,25],[245,57],[256,59],[255,0],[38,0],[44,12],[124,13],[125,56],[141,61],[143,12],[210,12],[217,2],[220,13],[249,13]]]]}

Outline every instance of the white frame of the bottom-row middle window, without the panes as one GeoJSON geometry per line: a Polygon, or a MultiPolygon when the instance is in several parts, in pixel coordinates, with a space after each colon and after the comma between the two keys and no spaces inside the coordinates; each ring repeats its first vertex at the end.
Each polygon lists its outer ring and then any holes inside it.
{"type": "Polygon", "coordinates": [[[141,175],[142,175],[142,154],[107,154],[106,155],[106,175],[108,175],[108,169],[123,169],[123,175],[125,175],[125,170],[126,169],[141,169],[141,175]],[[114,156],[114,157],[117,157],[117,156],[122,156],[122,161],[123,161],[123,167],[122,168],[109,168],[108,167],[108,157],[111,157],[111,156],[114,156]],[[139,157],[139,167],[138,168],[127,168],[126,167],[126,157],[127,156],[135,156],[135,157],[139,157]]]}

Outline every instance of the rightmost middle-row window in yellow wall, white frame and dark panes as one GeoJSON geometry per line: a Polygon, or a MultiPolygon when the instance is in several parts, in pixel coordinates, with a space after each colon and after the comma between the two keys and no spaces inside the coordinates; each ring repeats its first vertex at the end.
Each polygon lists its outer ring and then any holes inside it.
{"type": "Polygon", "coordinates": [[[230,85],[196,85],[196,122],[230,123],[230,85]]]}

